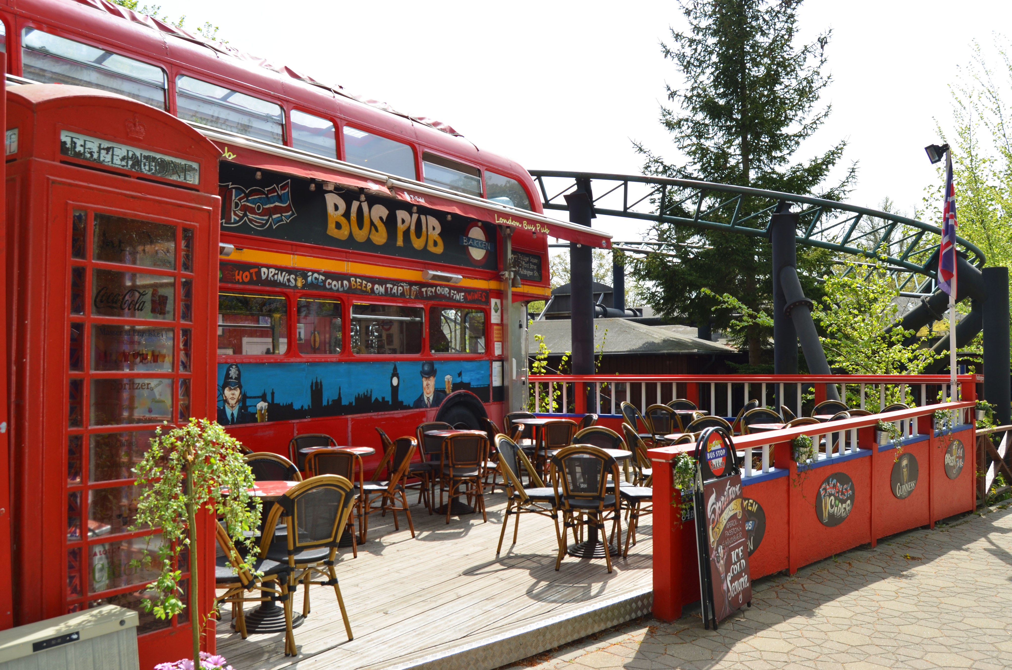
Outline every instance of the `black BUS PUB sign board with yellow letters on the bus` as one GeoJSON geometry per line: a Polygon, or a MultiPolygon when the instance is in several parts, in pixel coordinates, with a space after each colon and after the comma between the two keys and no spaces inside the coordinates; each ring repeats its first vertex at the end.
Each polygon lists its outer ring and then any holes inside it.
{"type": "Polygon", "coordinates": [[[457,214],[225,161],[219,193],[224,232],[499,269],[495,227],[457,214]]]}

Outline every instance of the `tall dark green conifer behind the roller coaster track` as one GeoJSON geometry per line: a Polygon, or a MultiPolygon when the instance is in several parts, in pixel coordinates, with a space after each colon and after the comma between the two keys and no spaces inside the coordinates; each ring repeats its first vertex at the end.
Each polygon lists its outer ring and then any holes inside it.
{"type": "MultiPolygon", "coordinates": [[[[672,106],[663,106],[661,122],[672,134],[684,164],[636,144],[648,174],[702,179],[791,193],[840,199],[854,179],[851,166],[833,187],[822,184],[843,156],[845,142],[808,161],[792,162],[802,142],[812,137],[830,113],[819,97],[830,82],[823,75],[829,32],[795,45],[799,1],[685,0],[686,32],[671,30],[664,57],[685,78],[681,88],[667,87],[672,106]]],[[[746,202],[746,210],[748,208],[746,202]]],[[[679,216],[692,214],[674,211],[679,216]]],[[[743,214],[750,214],[743,211],[743,214]]],[[[666,317],[693,321],[732,319],[715,296],[730,294],[753,312],[772,304],[770,249],[766,240],[690,226],[655,225],[659,241],[671,242],[676,257],[653,254],[634,262],[635,276],[648,287],[648,300],[666,317]],[[702,292],[710,288],[715,296],[702,292]]],[[[828,270],[829,255],[798,250],[802,274],[828,270]]],[[[815,290],[803,277],[806,291],[815,290]]],[[[766,344],[762,326],[747,329],[749,362],[759,364],[766,344]]]]}

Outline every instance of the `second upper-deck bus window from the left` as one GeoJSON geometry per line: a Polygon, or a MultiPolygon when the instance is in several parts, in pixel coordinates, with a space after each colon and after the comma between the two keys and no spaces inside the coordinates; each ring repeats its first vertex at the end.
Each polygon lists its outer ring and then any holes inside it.
{"type": "Polygon", "coordinates": [[[258,140],[283,142],[281,105],[185,75],[176,77],[179,118],[258,140]]]}

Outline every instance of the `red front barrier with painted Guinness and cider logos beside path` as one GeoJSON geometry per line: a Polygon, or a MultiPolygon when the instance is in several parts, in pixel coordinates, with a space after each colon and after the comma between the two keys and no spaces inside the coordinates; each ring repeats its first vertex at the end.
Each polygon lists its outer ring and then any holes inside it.
{"type": "MultiPolygon", "coordinates": [[[[960,381],[965,385],[976,380],[960,381]]],[[[859,545],[874,546],[880,537],[933,526],[939,519],[973,510],[977,502],[974,406],[973,400],[931,404],[734,437],[736,452],[744,456],[743,513],[749,515],[751,578],[785,569],[794,573],[859,545]],[[933,425],[939,410],[954,418],[954,425],[944,432],[933,425]],[[900,428],[898,443],[876,443],[878,421],[900,428]],[[817,454],[812,463],[799,466],[792,455],[792,440],[800,435],[812,438],[817,454]],[[761,452],[759,468],[752,465],[753,455],[759,455],[756,449],[761,452]],[[852,487],[848,513],[828,523],[819,503],[826,500],[827,483],[844,480],[852,487]],[[896,482],[901,487],[894,491],[896,482]]],[[[699,598],[695,510],[683,508],[670,465],[684,450],[684,446],[662,446],[649,451],[654,462],[654,613],[665,620],[677,618],[684,604],[699,598]]]]}

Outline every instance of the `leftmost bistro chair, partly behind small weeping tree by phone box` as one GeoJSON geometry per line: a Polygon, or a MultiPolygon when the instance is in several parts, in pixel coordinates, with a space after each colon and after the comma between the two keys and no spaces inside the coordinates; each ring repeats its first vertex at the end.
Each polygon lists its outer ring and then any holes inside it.
{"type": "MultiPolygon", "coordinates": [[[[222,603],[232,605],[232,618],[236,632],[246,640],[246,616],[243,605],[247,602],[280,601],[284,607],[285,645],[291,635],[291,601],[288,598],[288,563],[255,558],[243,569],[243,561],[232,538],[216,521],[215,538],[221,555],[215,561],[215,590],[225,591],[215,596],[215,607],[222,603]],[[257,575],[259,573],[259,576],[257,575]]],[[[221,618],[219,610],[219,619],[221,618]]]]}

